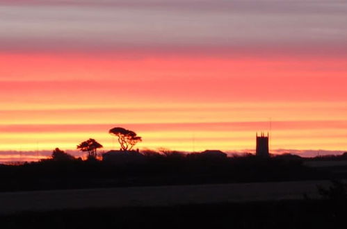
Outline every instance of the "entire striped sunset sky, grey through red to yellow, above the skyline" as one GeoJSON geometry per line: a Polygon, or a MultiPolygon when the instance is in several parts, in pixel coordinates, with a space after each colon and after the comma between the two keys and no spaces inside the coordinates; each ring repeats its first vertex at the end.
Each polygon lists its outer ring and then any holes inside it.
{"type": "Polygon", "coordinates": [[[0,0],[0,161],[119,149],[115,126],[139,149],[347,151],[346,22],[337,0],[0,0]]]}

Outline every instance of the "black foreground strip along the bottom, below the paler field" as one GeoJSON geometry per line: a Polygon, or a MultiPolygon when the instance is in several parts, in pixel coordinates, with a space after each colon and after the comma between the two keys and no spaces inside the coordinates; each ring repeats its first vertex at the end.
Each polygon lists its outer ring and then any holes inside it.
{"type": "Polygon", "coordinates": [[[29,212],[1,228],[346,228],[346,201],[275,201],[29,212]]]}

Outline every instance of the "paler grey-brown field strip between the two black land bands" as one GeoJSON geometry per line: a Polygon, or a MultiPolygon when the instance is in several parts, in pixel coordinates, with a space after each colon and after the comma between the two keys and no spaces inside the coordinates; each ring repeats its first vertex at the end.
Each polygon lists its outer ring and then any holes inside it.
{"type": "Polygon", "coordinates": [[[90,207],[173,206],[249,201],[319,198],[317,185],[327,180],[219,185],[171,185],[108,189],[67,189],[0,193],[0,214],[20,211],[49,211],[90,207]]]}

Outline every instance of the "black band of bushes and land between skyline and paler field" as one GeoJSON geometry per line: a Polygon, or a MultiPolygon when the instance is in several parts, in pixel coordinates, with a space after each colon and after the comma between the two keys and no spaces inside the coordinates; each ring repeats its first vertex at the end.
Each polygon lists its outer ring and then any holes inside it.
{"type": "MultiPolygon", "coordinates": [[[[83,148],[84,149],[84,148],[83,148]]],[[[86,148],[88,151],[88,148],[86,148]]],[[[91,154],[95,155],[95,154],[91,154]]],[[[293,155],[226,157],[223,152],[110,151],[103,160],[73,160],[60,150],[52,158],[0,166],[0,191],[245,183],[344,178],[346,173],[306,167],[293,155]],[[59,158],[59,159],[58,159],[59,158]]]]}

